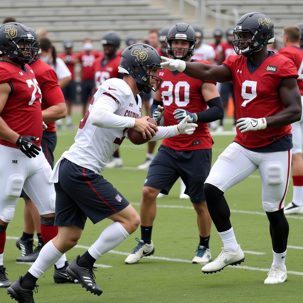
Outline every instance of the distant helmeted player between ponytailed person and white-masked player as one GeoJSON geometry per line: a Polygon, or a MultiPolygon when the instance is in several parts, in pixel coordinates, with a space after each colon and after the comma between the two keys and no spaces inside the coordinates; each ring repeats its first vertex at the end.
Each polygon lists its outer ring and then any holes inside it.
{"type": "MultiPolygon", "coordinates": [[[[73,42],[70,40],[63,42],[63,47],[65,49],[64,53],[61,53],[58,55],[59,58],[63,60],[63,62],[66,64],[67,68],[71,72],[71,81],[68,82],[68,84],[62,88],[62,92],[65,98],[66,102],[66,108],[67,108],[67,115],[66,115],[66,127],[67,128],[73,128],[72,125],[72,104],[76,100],[76,83],[75,83],[75,72],[74,72],[74,65],[78,62],[77,55],[72,52],[73,48],[73,42]]],[[[59,122],[60,124],[60,122],[59,122]]],[[[57,124],[58,125],[58,124],[57,124]]]]}

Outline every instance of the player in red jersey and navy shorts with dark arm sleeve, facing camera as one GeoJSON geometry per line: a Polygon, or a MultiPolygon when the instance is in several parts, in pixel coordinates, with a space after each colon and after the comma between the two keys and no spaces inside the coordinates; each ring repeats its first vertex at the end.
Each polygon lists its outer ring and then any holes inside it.
{"type": "MultiPolygon", "coordinates": [[[[196,35],[194,29],[186,23],[177,23],[169,30],[166,44],[168,56],[171,58],[210,64],[191,59],[195,53],[196,35]]],[[[151,107],[153,118],[160,121],[163,116],[164,125],[171,125],[190,115],[190,121],[197,122],[198,128],[190,138],[181,135],[163,140],[151,162],[140,206],[141,240],[138,240],[137,247],[125,259],[125,263],[137,263],[142,257],[154,253],[151,232],[156,216],[156,197],[160,192],[168,195],[179,177],[184,181],[185,194],[190,196],[197,212],[200,239],[192,263],[208,262],[211,258],[211,218],[203,193],[203,183],[210,171],[213,144],[208,122],[223,116],[223,105],[214,81],[195,80],[180,72],[168,70],[159,71],[159,76],[163,82],[154,95],[151,107]]]]}

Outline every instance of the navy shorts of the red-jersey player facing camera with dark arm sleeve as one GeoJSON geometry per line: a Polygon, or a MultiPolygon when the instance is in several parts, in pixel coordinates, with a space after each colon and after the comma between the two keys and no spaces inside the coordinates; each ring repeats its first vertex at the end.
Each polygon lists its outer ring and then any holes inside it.
{"type": "Polygon", "coordinates": [[[161,189],[168,195],[179,177],[183,180],[192,203],[205,201],[204,181],[211,167],[211,149],[176,151],[165,145],[159,150],[149,166],[144,186],[161,189]]]}

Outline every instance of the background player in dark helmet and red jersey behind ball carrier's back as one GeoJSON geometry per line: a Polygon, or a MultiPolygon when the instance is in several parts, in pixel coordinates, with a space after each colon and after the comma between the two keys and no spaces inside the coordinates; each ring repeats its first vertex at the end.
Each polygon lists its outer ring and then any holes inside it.
{"type": "MultiPolygon", "coordinates": [[[[106,32],[101,39],[101,44],[103,45],[104,55],[100,56],[93,63],[95,92],[105,80],[110,78],[121,78],[121,74],[118,72],[121,57],[117,55],[120,46],[120,36],[114,31],[106,32]]],[[[116,150],[106,167],[115,168],[122,165],[123,160],[119,155],[119,150],[116,150]]]]}

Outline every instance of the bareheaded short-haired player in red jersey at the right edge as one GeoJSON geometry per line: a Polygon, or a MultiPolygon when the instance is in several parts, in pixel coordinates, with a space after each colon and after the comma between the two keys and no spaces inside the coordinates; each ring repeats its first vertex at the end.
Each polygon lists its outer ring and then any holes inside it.
{"type": "MultiPolygon", "coordinates": [[[[303,102],[303,49],[300,48],[301,29],[296,25],[283,28],[283,43],[285,47],[279,50],[279,54],[291,59],[298,69],[297,83],[303,102]]],[[[285,214],[303,214],[303,159],[302,159],[302,136],[303,117],[300,121],[291,124],[292,143],[292,200],[284,208],[285,214]]]]}

